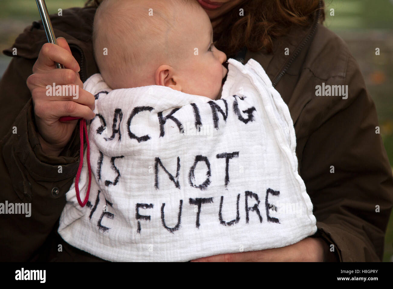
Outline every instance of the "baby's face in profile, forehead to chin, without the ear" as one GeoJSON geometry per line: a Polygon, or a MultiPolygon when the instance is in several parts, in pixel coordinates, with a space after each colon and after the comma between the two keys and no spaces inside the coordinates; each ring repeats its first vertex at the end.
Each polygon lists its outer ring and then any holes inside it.
{"type": "Polygon", "coordinates": [[[174,69],[181,91],[188,94],[219,99],[222,79],[228,70],[224,52],[213,46],[213,28],[206,12],[201,8],[179,11],[175,25],[178,35],[178,59],[174,69]]]}

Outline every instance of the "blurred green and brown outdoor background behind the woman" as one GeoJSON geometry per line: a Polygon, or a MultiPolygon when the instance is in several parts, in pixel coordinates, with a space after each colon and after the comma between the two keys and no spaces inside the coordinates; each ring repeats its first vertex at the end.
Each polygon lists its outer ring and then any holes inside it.
{"type": "MultiPolygon", "coordinates": [[[[46,0],[50,14],[57,9],[83,6],[84,0],[46,0]]],[[[34,20],[39,20],[34,0],[1,0],[0,50],[34,20]]],[[[358,61],[378,111],[380,132],[393,165],[393,0],[325,0],[326,22],[348,44],[358,61]],[[331,16],[334,9],[334,16],[331,16]],[[375,55],[375,48],[380,55],[375,55]]],[[[0,56],[0,76],[11,57],[0,56]]],[[[392,168],[393,169],[393,168],[392,168]]],[[[387,226],[384,261],[393,261],[393,214],[387,226]]]]}

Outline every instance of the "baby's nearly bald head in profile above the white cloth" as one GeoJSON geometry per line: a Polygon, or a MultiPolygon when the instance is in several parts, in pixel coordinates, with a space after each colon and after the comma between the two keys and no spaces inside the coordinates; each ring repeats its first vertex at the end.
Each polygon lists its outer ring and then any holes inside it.
{"type": "Polygon", "coordinates": [[[196,0],[104,0],[93,45],[112,89],[163,85],[220,98],[226,55],[213,46],[209,17],[196,0]]]}

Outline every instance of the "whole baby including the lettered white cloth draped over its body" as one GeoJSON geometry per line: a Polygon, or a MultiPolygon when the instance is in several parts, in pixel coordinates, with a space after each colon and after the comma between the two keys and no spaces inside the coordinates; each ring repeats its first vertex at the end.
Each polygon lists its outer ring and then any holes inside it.
{"type": "Polygon", "coordinates": [[[101,74],[84,83],[96,98],[91,187],[86,162],[81,197],[66,193],[64,241],[109,261],[189,261],[316,232],[288,107],[255,60],[228,59],[228,71],[212,35],[195,0],[99,6],[101,74]]]}

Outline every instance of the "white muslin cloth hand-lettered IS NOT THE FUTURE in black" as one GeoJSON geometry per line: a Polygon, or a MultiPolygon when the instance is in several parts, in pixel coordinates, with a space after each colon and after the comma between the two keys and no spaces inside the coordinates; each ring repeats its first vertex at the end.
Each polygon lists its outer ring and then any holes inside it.
{"type": "Polygon", "coordinates": [[[72,186],[61,214],[69,244],[110,261],[188,261],[316,232],[288,107],[253,59],[229,60],[214,101],[155,85],[111,91],[100,74],[84,89],[99,116],[89,202],[81,208],[72,186]]]}

